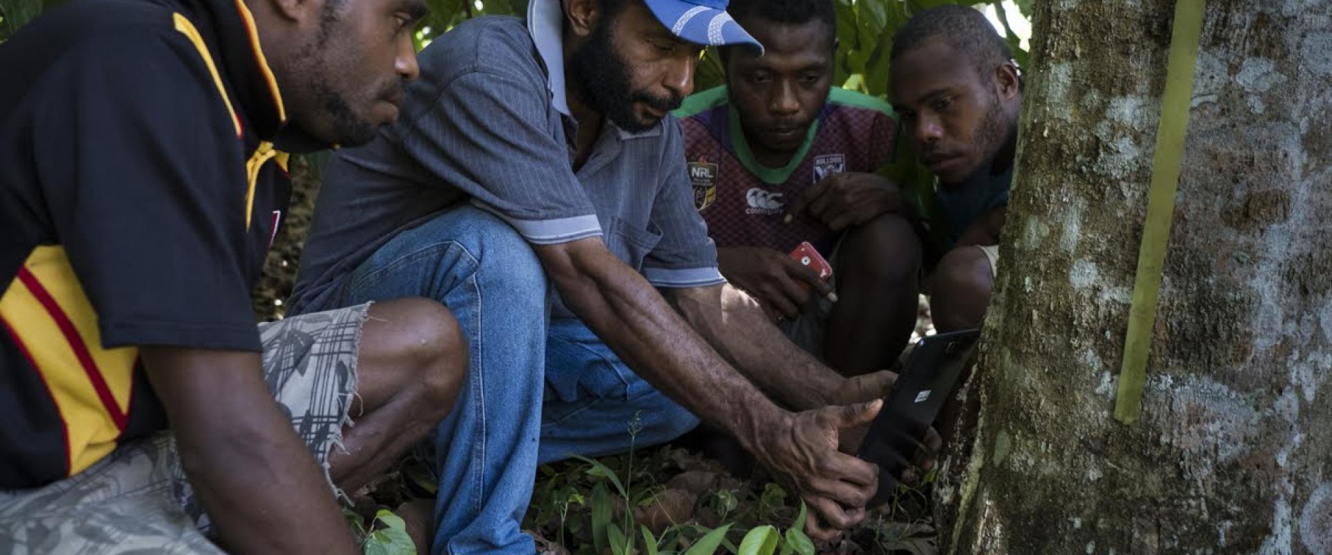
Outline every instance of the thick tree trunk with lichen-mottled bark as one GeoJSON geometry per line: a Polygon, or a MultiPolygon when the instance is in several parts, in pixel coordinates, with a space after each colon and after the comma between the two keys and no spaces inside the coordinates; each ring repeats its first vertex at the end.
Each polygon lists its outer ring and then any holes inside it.
{"type": "Polygon", "coordinates": [[[1332,554],[1332,3],[1207,3],[1131,426],[1112,413],[1175,3],[1034,4],[943,551],[1332,554]]]}

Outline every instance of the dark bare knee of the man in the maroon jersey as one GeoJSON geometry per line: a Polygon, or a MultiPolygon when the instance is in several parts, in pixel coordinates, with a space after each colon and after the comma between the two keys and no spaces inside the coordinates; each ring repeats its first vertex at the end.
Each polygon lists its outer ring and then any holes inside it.
{"type": "Polygon", "coordinates": [[[848,268],[870,273],[878,283],[915,278],[920,268],[920,240],[899,214],[848,229],[838,250],[839,260],[854,261],[848,268]]]}

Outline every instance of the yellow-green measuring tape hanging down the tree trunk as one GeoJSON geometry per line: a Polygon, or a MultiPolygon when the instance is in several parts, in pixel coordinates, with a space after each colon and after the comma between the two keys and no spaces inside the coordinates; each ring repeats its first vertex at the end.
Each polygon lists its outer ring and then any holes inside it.
{"type": "Polygon", "coordinates": [[[1156,153],[1152,157],[1152,185],[1147,193],[1147,221],[1143,222],[1143,245],[1138,252],[1134,305],[1128,313],[1128,334],[1124,339],[1124,366],[1119,370],[1119,394],[1115,398],[1115,419],[1126,425],[1134,423],[1143,409],[1147,354],[1152,346],[1156,297],[1162,287],[1166,248],[1169,245],[1205,4],[1205,0],[1180,0],[1175,4],[1166,93],[1162,97],[1156,153]]]}

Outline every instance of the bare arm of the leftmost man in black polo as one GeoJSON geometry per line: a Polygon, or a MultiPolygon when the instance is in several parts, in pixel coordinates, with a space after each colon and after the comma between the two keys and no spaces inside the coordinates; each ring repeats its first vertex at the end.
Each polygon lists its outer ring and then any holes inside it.
{"type": "Polygon", "coordinates": [[[141,355],[185,475],[229,552],[357,552],[257,353],[144,347],[141,355]]]}

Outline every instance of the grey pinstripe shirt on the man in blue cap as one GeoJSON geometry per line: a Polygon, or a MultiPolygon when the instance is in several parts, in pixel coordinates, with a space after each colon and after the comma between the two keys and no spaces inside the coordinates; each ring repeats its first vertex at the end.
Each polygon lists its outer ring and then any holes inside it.
{"type": "MultiPolygon", "coordinates": [[[[340,150],[289,310],[329,309],[330,291],[402,229],[470,200],[533,244],[602,236],[658,287],[723,283],[694,209],[678,122],[645,133],[609,121],[575,173],[554,13],[466,21],[421,52],[398,121],[340,150]]],[[[567,315],[558,307],[557,315],[567,315]]]]}

